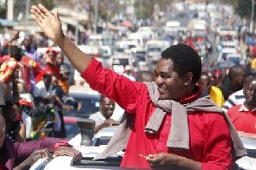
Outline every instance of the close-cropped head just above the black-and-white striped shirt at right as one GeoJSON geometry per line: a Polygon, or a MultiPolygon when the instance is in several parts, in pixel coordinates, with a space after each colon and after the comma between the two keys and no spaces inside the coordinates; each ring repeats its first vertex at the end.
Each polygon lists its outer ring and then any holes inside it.
{"type": "Polygon", "coordinates": [[[229,69],[228,77],[232,83],[233,90],[240,90],[243,87],[245,69],[240,65],[235,65],[229,69]]]}

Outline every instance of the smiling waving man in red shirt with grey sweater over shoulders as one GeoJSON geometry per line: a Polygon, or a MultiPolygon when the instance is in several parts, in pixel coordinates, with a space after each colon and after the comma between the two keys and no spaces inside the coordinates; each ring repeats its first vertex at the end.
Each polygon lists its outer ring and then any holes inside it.
{"type": "Polygon", "coordinates": [[[201,62],[194,49],[178,44],[163,51],[154,71],[156,80],[146,85],[104,69],[101,62],[82,53],[63,35],[58,15],[43,5],[32,6],[31,12],[44,34],[56,42],[91,88],[135,115],[129,136],[124,136],[128,143],[121,167],[231,168],[232,141],[223,114],[203,109],[187,114],[184,108],[200,98],[195,83],[200,78],[201,62]],[[165,101],[170,102],[166,108],[165,101]],[[179,126],[181,121],[185,124],[179,126]],[[181,136],[181,141],[172,138],[185,132],[187,141],[181,136]]]}

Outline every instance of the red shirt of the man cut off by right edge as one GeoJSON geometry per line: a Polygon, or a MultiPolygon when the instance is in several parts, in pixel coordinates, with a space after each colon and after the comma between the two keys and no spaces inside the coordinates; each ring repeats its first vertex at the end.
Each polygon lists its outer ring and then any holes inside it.
{"type": "Polygon", "coordinates": [[[238,131],[243,131],[246,133],[256,134],[256,111],[245,112],[239,111],[241,105],[229,108],[227,114],[229,115],[231,121],[233,121],[234,127],[238,131]]]}

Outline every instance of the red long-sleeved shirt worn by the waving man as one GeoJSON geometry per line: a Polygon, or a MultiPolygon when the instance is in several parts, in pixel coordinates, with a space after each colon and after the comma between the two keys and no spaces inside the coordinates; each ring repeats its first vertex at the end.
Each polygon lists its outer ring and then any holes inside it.
{"type": "MultiPolygon", "coordinates": [[[[148,89],[141,82],[132,82],[123,75],[102,68],[93,60],[82,77],[90,87],[116,101],[128,113],[134,113],[135,127],[132,130],[121,167],[150,168],[148,161],[139,154],[172,153],[201,162],[203,169],[227,169],[232,163],[231,138],[223,115],[214,113],[188,114],[190,148],[187,151],[167,147],[171,126],[171,114],[167,114],[157,134],[145,134],[150,115],[155,107],[148,95],[148,89]],[[221,128],[221,130],[220,130],[221,128]]],[[[182,100],[187,102],[199,93],[182,100]]]]}

